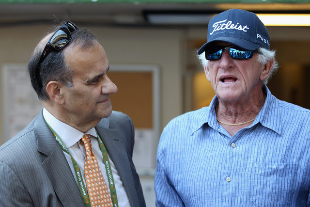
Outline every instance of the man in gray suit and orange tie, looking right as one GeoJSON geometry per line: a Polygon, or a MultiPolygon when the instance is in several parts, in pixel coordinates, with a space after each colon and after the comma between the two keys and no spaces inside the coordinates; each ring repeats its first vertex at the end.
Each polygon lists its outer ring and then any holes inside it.
{"type": "Polygon", "coordinates": [[[127,115],[112,112],[109,94],[117,87],[108,70],[95,35],[70,21],[40,41],[28,71],[43,109],[0,146],[1,207],[145,207],[132,161],[134,127],[127,115]],[[96,188],[107,190],[107,204],[85,178],[85,159],[99,165],[103,181],[96,188]]]}

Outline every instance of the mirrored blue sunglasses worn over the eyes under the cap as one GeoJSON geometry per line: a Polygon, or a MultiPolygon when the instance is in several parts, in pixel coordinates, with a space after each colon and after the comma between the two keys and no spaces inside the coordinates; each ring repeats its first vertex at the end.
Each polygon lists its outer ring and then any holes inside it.
{"type": "Polygon", "coordinates": [[[209,61],[218,60],[222,57],[223,52],[225,50],[232,58],[239,60],[250,59],[253,57],[254,54],[254,50],[246,50],[234,45],[233,46],[212,45],[205,49],[204,51],[205,59],[209,61]]]}

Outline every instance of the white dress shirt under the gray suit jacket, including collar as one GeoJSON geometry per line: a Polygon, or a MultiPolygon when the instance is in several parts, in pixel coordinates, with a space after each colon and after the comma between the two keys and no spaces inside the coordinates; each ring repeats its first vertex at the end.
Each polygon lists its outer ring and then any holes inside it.
{"type": "MultiPolygon", "coordinates": [[[[98,143],[97,139],[97,133],[95,131],[95,128],[91,128],[87,133],[83,133],[78,131],[78,129],[73,128],[61,121],[59,121],[57,118],[55,118],[51,113],[49,113],[45,108],[43,109],[43,116],[47,123],[49,124],[50,127],[58,134],[58,136],[62,139],[63,144],[66,146],[68,151],[70,152],[71,156],[77,161],[78,166],[80,167],[81,174],[84,175],[84,163],[85,163],[85,150],[84,146],[79,142],[79,140],[84,136],[84,134],[90,134],[91,136],[91,142],[92,142],[92,148],[93,148],[93,153],[95,154],[98,164],[101,170],[101,173],[107,183],[108,176],[107,176],[107,171],[106,171],[106,166],[104,164],[104,160],[102,157],[102,152],[100,150],[100,146],[98,143]]],[[[67,153],[63,153],[65,158],[67,159],[69,166],[71,168],[73,176],[76,178],[76,174],[74,171],[74,167],[72,164],[72,160],[70,155],[67,153]]],[[[117,199],[118,199],[118,204],[119,207],[130,207],[129,200],[127,197],[127,193],[124,189],[123,182],[118,175],[118,172],[115,168],[114,163],[112,160],[109,158],[111,169],[112,169],[112,174],[115,182],[115,189],[116,189],[116,194],[117,194],[117,199]]],[[[84,176],[83,181],[85,183],[84,176]]],[[[77,184],[78,181],[75,179],[77,184]]],[[[108,188],[109,189],[109,188],[108,188]]]]}

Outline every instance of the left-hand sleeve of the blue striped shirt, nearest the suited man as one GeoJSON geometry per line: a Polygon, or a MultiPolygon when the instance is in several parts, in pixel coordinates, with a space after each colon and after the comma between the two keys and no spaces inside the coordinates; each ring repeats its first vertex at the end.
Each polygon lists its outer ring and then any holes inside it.
{"type": "Polygon", "coordinates": [[[166,173],[166,139],[165,132],[163,132],[157,150],[155,172],[156,207],[184,207],[185,205],[180,195],[171,183],[169,175],[166,173]]]}

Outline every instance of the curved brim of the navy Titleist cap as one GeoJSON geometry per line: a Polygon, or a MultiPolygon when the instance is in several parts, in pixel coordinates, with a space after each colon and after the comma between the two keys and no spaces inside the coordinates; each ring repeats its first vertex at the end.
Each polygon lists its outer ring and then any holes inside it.
{"type": "Polygon", "coordinates": [[[218,37],[216,39],[213,39],[210,42],[205,43],[199,50],[198,54],[202,54],[205,50],[206,47],[208,47],[211,43],[216,42],[216,41],[223,41],[223,42],[228,42],[230,44],[233,44],[235,46],[238,46],[243,49],[247,50],[256,50],[262,46],[255,44],[253,42],[250,42],[248,40],[240,39],[240,38],[235,38],[235,37],[218,37]]]}

